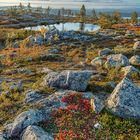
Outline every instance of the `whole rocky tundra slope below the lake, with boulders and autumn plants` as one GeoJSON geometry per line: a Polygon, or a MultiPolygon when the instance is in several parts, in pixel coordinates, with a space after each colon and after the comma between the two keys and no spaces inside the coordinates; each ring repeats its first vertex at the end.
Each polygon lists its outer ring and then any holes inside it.
{"type": "Polygon", "coordinates": [[[139,36],[110,34],[53,29],[2,50],[0,139],[139,139],[139,36]]]}

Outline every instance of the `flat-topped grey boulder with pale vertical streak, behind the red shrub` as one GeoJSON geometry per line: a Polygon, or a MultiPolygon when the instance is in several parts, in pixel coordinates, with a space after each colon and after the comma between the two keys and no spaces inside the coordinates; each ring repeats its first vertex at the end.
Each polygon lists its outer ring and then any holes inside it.
{"type": "Polygon", "coordinates": [[[44,78],[44,85],[60,89],[85,91],[92,71],[51,72],[44,78]]]}

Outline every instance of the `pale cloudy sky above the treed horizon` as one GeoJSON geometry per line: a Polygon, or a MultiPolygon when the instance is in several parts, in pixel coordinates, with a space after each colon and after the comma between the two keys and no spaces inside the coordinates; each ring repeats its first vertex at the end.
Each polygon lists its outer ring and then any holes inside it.
{"type": "Polygon", "coordinates": [[[17,4],[19,2],[30,2],[33,6],[45,6],[51,7],[80,7],[85,4],[86,7],[92,8],[116,8],[116,7],[133,7],[140,8],[140,0],[0,0],[0,6],[17,4]],[[42,2],[43,1],[43,2],[42,2]]]}

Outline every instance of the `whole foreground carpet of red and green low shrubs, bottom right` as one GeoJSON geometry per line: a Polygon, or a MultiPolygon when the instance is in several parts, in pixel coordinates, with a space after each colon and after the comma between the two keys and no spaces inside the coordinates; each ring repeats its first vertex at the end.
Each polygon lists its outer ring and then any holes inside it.
{"type": "Polygon", "coordinates": [[[139,121],[122,119],[107,110],[95,114],[90,101],[80,93],[71,93],[62,98],[67,106],[54,110],[49,121],[41,126],[53,133],[55,140],[139,140],[139,121]],[[94,128],[99,122],[102,127],[94,128]]]}

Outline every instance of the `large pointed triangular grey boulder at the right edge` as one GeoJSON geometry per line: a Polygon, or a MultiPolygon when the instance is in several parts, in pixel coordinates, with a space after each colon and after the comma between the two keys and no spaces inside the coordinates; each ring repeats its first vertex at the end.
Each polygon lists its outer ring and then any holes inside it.
{"type": "Polygon", "coordinates": [[[107,108],[122,118],[140,118],[140,88],[124,78],[107,100],[107,108]]]}

